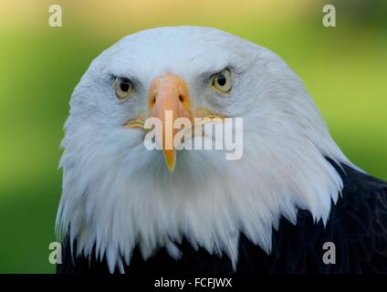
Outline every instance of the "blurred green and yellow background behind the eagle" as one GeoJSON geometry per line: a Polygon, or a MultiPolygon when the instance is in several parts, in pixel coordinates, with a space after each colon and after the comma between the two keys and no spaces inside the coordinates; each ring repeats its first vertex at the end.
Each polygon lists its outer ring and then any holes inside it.
{"type": "Polygon", "coordinates": [[[89,62],[154,26],[214,26],[269,47],[304,80],[350,160],[387,179],[386,1],[0,1],[0,273],[52,273],[68,100],[89,62]],[[63,26],[48,26],[48,7],[63,26]]]}

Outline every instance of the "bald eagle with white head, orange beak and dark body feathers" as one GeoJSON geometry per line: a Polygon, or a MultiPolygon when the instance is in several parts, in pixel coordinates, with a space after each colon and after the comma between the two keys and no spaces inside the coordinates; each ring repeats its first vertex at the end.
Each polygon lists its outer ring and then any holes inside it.
{"type": "Polygon", "coordinates": [[[387,272],[387,183],[340,151],[280,57],[237,36],[124,37],[74,89],[62,147],[58,273],[387,272]],[[146,120],[167,111],[242,118],[243,155],[167,149],[175,130],[146,149],[146,120]]]}

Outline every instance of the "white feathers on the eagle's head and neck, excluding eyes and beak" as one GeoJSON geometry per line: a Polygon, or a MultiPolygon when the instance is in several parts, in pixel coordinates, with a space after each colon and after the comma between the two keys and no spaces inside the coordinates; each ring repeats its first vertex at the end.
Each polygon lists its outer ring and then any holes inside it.
{"type": "Polygon", "coordinates": [[[353,166],[280,57],[206,27],[146,30],[105,50],[74,90],[65,129],[57,231],[77,238],[78,253],[97,245],[110,271],[130,263],[135,245],[145,259],[160,247],[178,257],[173,242],[183,236],[234,266],[240,233],[269,253],[281,215],[296,223],[302,208],[327,221],[342,182],[324,157],[353,166]],[[232,68],[234,85],[222,99],[205,77],[223,68],[232,68]],[[165,73],[185,80],[193,108],[244,119],[242,159],[179,151],[171,173],[140,130],[122,127],[146,112],[152,79],[165,73]],[[134,78],[135,95],[117,102],[112,76],[134,78]]]}

